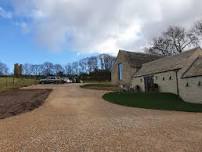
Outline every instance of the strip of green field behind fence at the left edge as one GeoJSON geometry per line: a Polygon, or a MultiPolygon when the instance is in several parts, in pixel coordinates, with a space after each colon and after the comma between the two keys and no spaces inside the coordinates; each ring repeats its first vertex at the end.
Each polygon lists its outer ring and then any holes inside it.
{"type": "Polygon", "coordinates": [[[37,84],[38,81],[33,78],[12,78],[12,77],[1,77],[0,78],[0,91],[21,88],[32,84],[37,84]]]}

